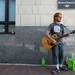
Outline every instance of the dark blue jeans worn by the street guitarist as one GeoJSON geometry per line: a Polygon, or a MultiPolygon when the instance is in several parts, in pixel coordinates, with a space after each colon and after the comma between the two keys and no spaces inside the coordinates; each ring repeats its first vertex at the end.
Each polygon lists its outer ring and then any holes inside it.
{"type": "Polygon", "coordinates": [[[53,64],[63,64],[63,43],[59,43],[57,46],[52,48],[52,60],[53,64]]]}

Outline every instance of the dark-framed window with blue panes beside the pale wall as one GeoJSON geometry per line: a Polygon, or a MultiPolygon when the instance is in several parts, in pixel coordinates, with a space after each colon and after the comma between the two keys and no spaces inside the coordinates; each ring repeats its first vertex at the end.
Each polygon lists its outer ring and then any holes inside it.
{"type": "Polygon", "coordinates": [[[15,33],[15,0],[0,0],[0,33],[15,33]]]}

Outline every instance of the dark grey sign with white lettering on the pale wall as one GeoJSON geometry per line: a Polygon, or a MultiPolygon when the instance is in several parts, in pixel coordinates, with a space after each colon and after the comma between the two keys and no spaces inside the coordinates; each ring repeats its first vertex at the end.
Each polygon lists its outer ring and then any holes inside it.
{"type": "Polygon", "coordinates": [[[75,9],[75,0],[58,0],[58,9],[75,9]]]}

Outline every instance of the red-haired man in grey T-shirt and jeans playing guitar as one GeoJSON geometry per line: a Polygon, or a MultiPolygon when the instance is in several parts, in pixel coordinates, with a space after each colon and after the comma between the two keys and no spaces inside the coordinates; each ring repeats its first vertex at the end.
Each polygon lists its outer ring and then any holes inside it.
{"type": "MultiPolygon", "coordinates": [[[[62,36],[64,34],[64,25],[61,24],[62,20],[62,13],[57,12],[54,14],[53,17],[53,23],[51,23],[48,27],[48,30],[46,32],[46,35],[53,41],[54,44],[57,43],[56,40],[51,38],[50,36],[53,34],[56,34],[57,36],[62,36]]],[[[62,40],[59,40],[58,44],[52,48],[52,59],[53,59],[53,64],[56,65],[55,72],[60,72],[61,70],[67,70],[67,68],[63,67],[63,42],[62,40]]]]}

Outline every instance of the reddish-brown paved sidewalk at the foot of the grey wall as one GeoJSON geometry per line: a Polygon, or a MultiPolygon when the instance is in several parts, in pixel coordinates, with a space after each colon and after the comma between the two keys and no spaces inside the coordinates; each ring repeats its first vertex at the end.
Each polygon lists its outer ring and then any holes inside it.
{"type": "MultiPolygon", "coordinates": [[[[49,67],[21,64],[0,64],[0,75],[51,75],[49,67]]],[[[75,72],[61,72],[59,75],[75,75],[75,72]]]]}

